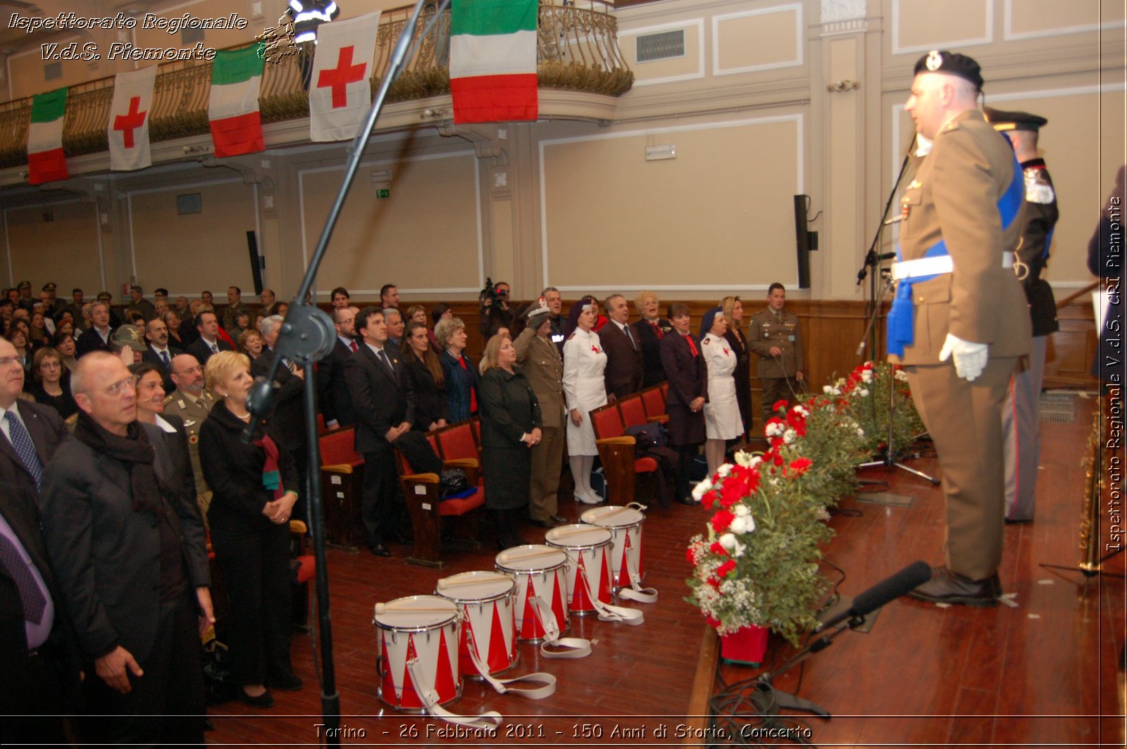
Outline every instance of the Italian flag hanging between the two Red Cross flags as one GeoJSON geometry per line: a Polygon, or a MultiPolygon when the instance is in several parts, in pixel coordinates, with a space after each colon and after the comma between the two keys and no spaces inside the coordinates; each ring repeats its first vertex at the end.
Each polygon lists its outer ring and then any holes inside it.
{"type": "Polygon", "coordinates": [[[263,143],[263,118],[258,112],[258,87],[263,82],[265,46],[220,51],[212,63],[212,92],[207,119],[215,155],[237,157],[256,153],[263,143]]]}

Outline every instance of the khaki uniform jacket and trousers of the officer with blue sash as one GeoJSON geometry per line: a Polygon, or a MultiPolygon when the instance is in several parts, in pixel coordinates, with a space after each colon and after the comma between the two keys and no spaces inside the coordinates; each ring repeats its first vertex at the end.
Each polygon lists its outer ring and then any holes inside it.
{"type": "Polygon", "coordinates": [[[902,258],[923,258],[942,239],[953,268],[914,284],[914,340],[889,358],[906,365],[943,470],[948,569],[971,580],[990,578],[1002,559],[1002,402],[1030,345],[1026,295],[1003,265],[1023,226],[1019,215],[1003,229],[999,208],[1015,169],[1010,144],[968,110],[935,136],[900,204],[902,258]],[[948,332],[990,345],[973,382],[939,360],[948,332]]]}

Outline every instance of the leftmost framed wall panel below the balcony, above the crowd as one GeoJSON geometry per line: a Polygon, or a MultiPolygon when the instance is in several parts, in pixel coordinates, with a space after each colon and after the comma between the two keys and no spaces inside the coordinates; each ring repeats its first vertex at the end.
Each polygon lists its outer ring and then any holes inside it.
{"type": "Polygon", "coordinates": [[[29,280],[34,293],[48,280],[59,284],[59,295],[87,289],[94,298],[101,289],[101,244],[94,205],[68,200],[3,212],[7,239],[7,283],[29,280]],[[44,221],[50,213],[53,221],[44,221]],[[65,289],[65,292],[63,291],[65,289]]]}

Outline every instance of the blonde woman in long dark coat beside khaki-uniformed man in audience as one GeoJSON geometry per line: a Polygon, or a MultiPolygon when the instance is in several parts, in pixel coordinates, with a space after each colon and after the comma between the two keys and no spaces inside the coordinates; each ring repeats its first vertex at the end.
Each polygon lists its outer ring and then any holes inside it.
{"type": "Polygon", "coordinates": [[[481,469],[486,507],[497,527],[497,546],[523,543],[521,516],[532,484],[531,447],[540,443],[540,403],[516,371],[508,336],[494,336],[481,357],[481,469]]]}

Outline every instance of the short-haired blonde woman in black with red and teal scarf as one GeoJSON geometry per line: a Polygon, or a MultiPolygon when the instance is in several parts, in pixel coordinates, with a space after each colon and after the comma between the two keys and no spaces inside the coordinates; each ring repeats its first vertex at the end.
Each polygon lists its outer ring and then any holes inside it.
{"type": "Polygon", "coordinates": [[[229,597],[228,647],[237,696],[269,707],[267,687],[300,689],[290,662],[290,514],[298,472],[290,453],[261,428],[249,445],[247,393],[254,380],[245,354],[220,351],[204,369],[219,396],[199,428],[199,463],[213,497],[212,546],[229,597]]]}

